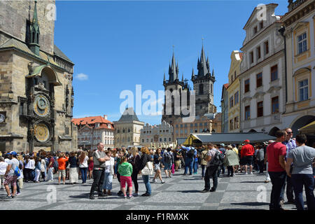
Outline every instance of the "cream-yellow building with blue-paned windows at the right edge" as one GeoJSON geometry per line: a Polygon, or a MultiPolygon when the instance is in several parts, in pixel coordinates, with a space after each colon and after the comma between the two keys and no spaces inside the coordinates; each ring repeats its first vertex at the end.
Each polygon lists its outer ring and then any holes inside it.
{"type": "Polygon", "coordinates": [[[315,120],[315,1],[289,1],[283,15],[286,38],[286,111],[283,121],[293,134],[315,120]]]}

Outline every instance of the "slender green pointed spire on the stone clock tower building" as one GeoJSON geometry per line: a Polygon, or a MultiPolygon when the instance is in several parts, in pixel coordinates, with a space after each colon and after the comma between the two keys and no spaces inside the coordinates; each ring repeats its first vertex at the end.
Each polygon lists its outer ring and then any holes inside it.
{"type": "Polygon", "coordinates": [[[34,6],[34,14],[33,14],[33,20],[31,21],[31,27],[30,27],[30,33],[31,33],[31,39],[29,42],[29,48],[32,52],[34,52],[35,55],[39,56],[39,25],[38,25],[38,18],[37,18],[37,1],[35,0],[35,6],[34,6]]]}

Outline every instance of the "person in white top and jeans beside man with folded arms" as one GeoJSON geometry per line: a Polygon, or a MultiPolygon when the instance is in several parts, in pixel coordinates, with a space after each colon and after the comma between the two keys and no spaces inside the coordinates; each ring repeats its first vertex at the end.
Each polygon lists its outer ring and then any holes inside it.
{"type": "Polygon", "coordinates": [[[103,182],[103,192],[104,194],[111,195],[111,189],[113,188],[113,166],[115,165],[114,158],[111,156],[111,149],[105,152],[107,157],[110,160],[105,162],[105,171],[104,171],[104,182],[103,182]],[[107,190],[107,193],[106,193],[107,190]]]}

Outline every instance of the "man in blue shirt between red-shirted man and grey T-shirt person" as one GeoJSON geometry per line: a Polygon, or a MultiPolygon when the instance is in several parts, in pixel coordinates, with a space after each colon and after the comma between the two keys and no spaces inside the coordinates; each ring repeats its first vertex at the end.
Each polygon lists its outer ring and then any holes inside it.
{"type": "MultiPolygon", "coordinates": [[[[288,158],[288,154],[293,148],[296,148],[296,142],[292,139],[293,132],[287,127],[286,128],[286,140],[282,142],[283,145],[286,146],[286,158],[288,158]]],[[[292,165],[290,171],[292,172],[292,165]]],[[[288,203],[295,204],[294,196],[293,196],[293,185],[290,176],[286,176],[286,185],[283,186],[283,190],[281,191],[281,200],[284,202],[284,189],[286,188],[286,197],[288,198],[288,203]]]]}

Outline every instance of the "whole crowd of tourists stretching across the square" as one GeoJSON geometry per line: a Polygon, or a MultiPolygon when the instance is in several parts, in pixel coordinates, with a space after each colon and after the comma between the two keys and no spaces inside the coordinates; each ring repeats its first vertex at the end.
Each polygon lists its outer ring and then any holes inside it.
{"type": "Polygon", "coordinates": [[[54,181],[57,184],[85,184],[93,179],[90,199],[94,192],[99,197],[112,195],[113,179],[118,179],[118,196],[131,198],[139,196],[138,178],[144,181],[146,192],[152,194],[151,183],[165,183],[175,172],[196,175],[201,170],[204,189],[201,193],[215,192],[218,177],[244,175],[265,175],[265,183],[271,181],[269,209],[283,209],[284,193],[288,203],[297,209],[304,209],[303,185],[308,209],[315,209],[314,200],[314,158],[315,149],[305,146],[303,134],[293,139],[290,128],[276,132],[276,141],[251,144],[245,140],[236,144],[207,144],[206,146],[176,148],[107,148],[97,144],[94,151],[16,153],[0,155],[0,186],[8,198],[20,195],[23,182],[54,181]],[[150,177],[153,179],[150,179],[150,177]],[[210,178],[213,186],[210,186],[210,178]],[[160,181],[158,181],[158,179],[160,181]],[[9,185],[11,188],[9,188],[9,185]],[[286,189],[285,189],[286,186],[286,189]],[[294,195],[293,195],[294,193],[294,195]],[[295,196],[295,197],[294,197],[295,196]]]}

